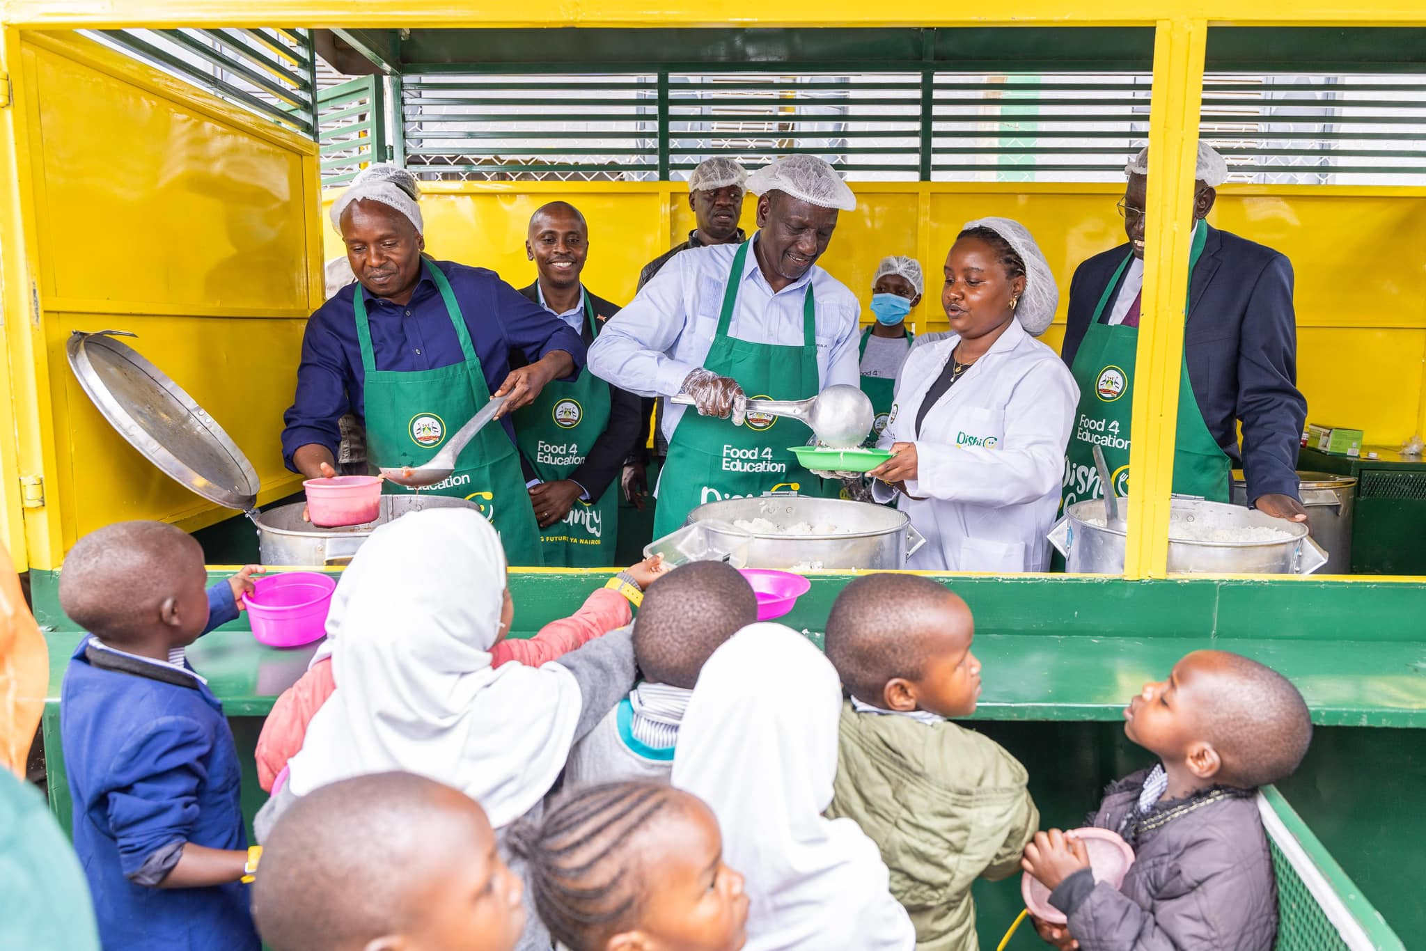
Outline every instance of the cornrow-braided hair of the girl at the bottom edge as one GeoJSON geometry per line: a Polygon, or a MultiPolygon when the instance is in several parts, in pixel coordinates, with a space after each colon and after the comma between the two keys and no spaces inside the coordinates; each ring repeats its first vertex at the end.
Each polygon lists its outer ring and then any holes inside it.
{"type": "Polygon", "coordinates": [[[605,783],[563,797],[539,823],[511,827],[509,850],[559,944],[597,951],[632,924],[645,900],[633,845],[665,807],[677,808],[677,796],[663,783],[605,783]]]}

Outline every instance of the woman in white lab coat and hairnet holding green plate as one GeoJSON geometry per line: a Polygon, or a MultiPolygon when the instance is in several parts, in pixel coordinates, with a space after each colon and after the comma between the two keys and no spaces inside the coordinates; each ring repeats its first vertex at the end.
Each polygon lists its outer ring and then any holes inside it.
{"type": "Polygon", "coordinates": [[[871,471],[873,496],[925,536],[907,567],[1041,572],[1060,508],[1079,388],[1035,339],[1060,289],[1024,225],[967,222],[945,257],[945,339],[917,346],[897,376],[871,471]]]}

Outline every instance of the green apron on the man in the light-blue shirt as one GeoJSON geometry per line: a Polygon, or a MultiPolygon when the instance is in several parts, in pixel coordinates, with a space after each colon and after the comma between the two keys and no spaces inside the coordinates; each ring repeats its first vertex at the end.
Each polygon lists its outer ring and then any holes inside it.
{"type": "MultiPolygon", "coordinates": [[[[733,255],[733,269],[723,292],[723,311],[717,332],[703,366],[722,376],[732,376],[753,399],[807,399],[819,392],[817,307],[807,282],[803,297],[801,346],[754,344],[727,335],[737,307],[737,287],[747,262],[744,241],[733,255]]],[[[821,479],[799,468],[787,449],[806,443],[811,431],[796,419],[749,413],[747,422],[734,426],[717,416],[700,416],[687,406],[679,428],[669,441],[669,458],[659,476],[659,508],[653,518],[653,538],[663,538],[680,528],[689,512],[704,502],[740,499],[771,492],[821,495],[821,479]],[[801,492],[803,488],[810,489],[801,492]]]]}

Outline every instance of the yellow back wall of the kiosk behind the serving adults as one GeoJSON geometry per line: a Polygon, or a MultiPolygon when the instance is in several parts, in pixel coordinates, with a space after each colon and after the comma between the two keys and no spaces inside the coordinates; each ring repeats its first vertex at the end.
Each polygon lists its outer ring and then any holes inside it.
{"type": "MultiPolygon", "coordinates": [[[[877,261],[914,254],[927,272],[927,298],[911,317],[923,329],[945,329],[938,275],[973,218],[1017,218],[1040,241],[1061,291],[1060,314],[1044,336],[1057,348],[1075,265],[1124,241],[1114,208],[1122,190],[1112,184],[853,188],[857,210],[841,214],[821,264],[867,301],[877,261]]],[[[493,267],[518,285],[535,277],[523,250],[529,214],[553,198],[573,202],[590,227],[586,284],[616,302],[632,297],[645,262],[693,227],[680,184],[428,183],[426,190],[432,254],[493,267]]],[[[743,208],[747,230],[753,205],[743,208]]],[[[1426,190],[1228,185],[1209,221],[1291,258],[1298,376],[1313,421],[1360,428],[1373,443],[1400,442],[1423,426],[1426,190]]],[[[331,225],[324,240],[328,255],[342,252],[331,225]]]]}

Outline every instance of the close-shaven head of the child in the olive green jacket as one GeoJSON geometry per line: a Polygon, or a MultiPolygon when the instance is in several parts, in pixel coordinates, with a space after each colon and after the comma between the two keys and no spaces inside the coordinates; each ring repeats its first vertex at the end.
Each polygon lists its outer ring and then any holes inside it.
{"type": "Polygon", "coordinates": [[[970,607],[917,575],[864,575],[837,595],[827,616],[826,652],[841,684],[880,706],[893,677],[921,680],[947,650],[965,650],[974,636],[970,607]]]}

